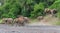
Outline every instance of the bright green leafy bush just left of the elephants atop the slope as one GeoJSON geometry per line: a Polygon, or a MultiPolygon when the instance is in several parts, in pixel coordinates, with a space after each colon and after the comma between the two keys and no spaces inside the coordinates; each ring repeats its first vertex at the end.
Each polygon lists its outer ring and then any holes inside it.
{"type": "Polygon", "coordinates": [[[41,16],[44,11],[44,3],[34,5],[34,11],[31,12],[31,17],[41,16]]]}

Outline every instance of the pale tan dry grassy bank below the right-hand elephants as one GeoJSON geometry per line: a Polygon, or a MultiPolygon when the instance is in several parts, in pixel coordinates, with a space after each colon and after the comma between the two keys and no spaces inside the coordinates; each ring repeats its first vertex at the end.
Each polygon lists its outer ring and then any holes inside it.
{"type": "Polygon", "coordinates": [[[47,15],[41,21],[38,21],[37,19],[31,20],[31,24],[60,25],[60,22],[58,21],[58,18],[52,17],[51,15],[47,15]]]}

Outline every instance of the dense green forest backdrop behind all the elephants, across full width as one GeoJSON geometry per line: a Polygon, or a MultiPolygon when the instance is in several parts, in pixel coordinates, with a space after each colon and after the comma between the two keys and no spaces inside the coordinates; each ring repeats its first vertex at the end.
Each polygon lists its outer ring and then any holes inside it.
{"type": "Polygon", "coordinates": [[[0,0],[0,18],[16,18],[23,15],[31,18],[44,16],[45,8],[56,8],[60,17],[60,0],[0,0]]]}

